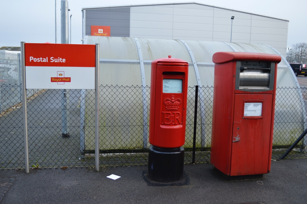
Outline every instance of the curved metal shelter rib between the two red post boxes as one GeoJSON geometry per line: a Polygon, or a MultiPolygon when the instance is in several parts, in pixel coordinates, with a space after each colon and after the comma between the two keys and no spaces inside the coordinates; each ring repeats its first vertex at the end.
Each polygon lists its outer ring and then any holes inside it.
{"type": "Polygon", "coordinates": [[[206,146],[206,115],[205,115],[205,104],[204,104],[204,90],[202,89],[202,85],[201,85],[201,80],[200,80],[200,75],[199,75],[199,71],[198,71],[198,67],[196,64],[196,60],[194,58],[193,52],[191,51],[190,47],[188,46],[188,44],[183,41],[180,40],[185,47],[188,49],[188,52],[191,56],[192,59],[192,63],[194,66],[194,70],[196,73],[196,79],[197,79],[197,84],[198,84],[198,94],[199,94],[199,98],[200,98],[200,117],[201,117],[201,147],[205,147],[206,146]]]}

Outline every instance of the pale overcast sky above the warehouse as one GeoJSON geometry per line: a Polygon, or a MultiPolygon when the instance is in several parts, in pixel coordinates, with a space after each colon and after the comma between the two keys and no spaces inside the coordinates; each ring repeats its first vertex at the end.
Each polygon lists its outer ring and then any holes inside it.
{"type": "MultiPolygon", "coordinates": [[[[72,44],[82,44],[83,7],[148,3],[192,2],[187,0],[68,0],[72,14],[72,44]]],[[[287,46],[307,42],[306,0],[198,0],[198,3],[289,20],[287,46]]],[[[55,0],[1,0],[0,47],[19,47],[20,42],[55,43],[55,0]]],[[[60,43],[60,5],[57,9],[57,42],[60,43]]]]}

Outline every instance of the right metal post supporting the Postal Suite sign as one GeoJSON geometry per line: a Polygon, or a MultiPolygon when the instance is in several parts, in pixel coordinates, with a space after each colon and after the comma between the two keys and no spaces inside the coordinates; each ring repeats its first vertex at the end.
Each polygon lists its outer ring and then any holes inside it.
{"type": "Polygon", "coordinates": [[[99,171],[99,44],[95,44],[95,167],[99,171]]]}

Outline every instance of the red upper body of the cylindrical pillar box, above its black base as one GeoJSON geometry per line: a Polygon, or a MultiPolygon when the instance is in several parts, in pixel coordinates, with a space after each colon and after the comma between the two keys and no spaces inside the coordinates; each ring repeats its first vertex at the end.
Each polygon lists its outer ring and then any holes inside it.
{"type": "Polygon", "coordinates": [[[160,148],[178,148],[185,143],[188,63],[175,58],[151,64],[149,142],[160,148]],[[182,90],[163,91],[163,80],[181,82],[182,90]]]}

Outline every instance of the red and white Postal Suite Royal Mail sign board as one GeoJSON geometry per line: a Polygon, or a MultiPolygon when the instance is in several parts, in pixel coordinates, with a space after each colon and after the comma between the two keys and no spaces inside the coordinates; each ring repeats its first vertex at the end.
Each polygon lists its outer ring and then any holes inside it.
{"type": "Polygon", "coordinates": [[[95,89],[95,45],[25,43],[26,89],[95,89]]]}

